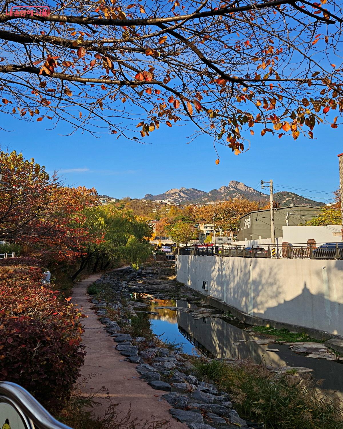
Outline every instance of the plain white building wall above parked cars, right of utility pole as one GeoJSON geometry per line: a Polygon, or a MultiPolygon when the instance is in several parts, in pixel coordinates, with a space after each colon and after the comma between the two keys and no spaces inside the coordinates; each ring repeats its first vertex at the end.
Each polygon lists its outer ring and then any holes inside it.
{"type": "Polygon", "coordinates": [[[341,225],[328,225],[326,227],[282,227],[283,241],[289,243],[307,243],[315,239],[316,243],[336,243],[342,241],[341,225]],[[334,236],[339,233],[339,236],[334,236]]]}

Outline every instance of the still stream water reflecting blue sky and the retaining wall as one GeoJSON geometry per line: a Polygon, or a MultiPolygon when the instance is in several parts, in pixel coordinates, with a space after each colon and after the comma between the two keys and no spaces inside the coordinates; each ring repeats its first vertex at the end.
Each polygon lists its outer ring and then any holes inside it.
{"type": "MultiPolygon", "coordinates": [[[[132,298],[135,298],[132,296],[132,298]]],[[[343,366],[337,361],[307,358],[302,353],[294,353],[285,344],[256,344],[252,340],[265,339],[261,335],[249,335],[244,329],[247,325],[238,320],[223,320],[214,317],[195,319],[191,313],[173,311],[156,307],[172,306],[196,307],[184,300],[155,299],[149,295],[136,296],[138,300],[150,302],[147,311],[151,329],[162,340],[181,344],[184,353],[208,358],[250,358],[255,363],[265,362],[268,366],[301,366],[313,369],[310,374],[322,380],[321,389],[336,392],[343,398],[343,366]],[[240,344],[234,344],[240,343],[240,344]],[[267,351],[275,348],[278,352],[267,351]]],[[[217,310],[217,313],[221,313],[217,310]]]]}

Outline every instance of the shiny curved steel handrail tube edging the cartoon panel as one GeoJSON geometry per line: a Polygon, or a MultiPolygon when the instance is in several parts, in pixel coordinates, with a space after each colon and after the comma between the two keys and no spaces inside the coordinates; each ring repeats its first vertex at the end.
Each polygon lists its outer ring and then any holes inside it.
{"type": "Polygon", "coordinates": [[[30,419],[36,429],[71,429],[60,423],[30,393],[18,384],[9,381],[0,382],[0,403],[7,402],[18,408],[20,414],[30,419]]]}

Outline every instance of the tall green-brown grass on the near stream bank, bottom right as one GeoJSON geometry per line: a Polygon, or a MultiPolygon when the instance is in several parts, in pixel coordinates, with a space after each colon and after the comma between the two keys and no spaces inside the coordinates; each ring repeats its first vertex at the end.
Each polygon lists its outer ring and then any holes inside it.
{"type": "Polygon", "coordinates": [[[198,364],[199,376],[229,392],[240,417],[265,429],[342,429],[340,399],[320,393],[309,378],[269,372],[264,365],[212,360],[198,364]]]}

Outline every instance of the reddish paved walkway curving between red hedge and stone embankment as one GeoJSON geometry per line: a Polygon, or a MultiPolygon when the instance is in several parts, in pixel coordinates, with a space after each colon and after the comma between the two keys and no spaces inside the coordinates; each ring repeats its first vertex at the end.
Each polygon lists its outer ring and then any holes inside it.
{"type": "MultiPolygon", "coordinates": [[[[166,392],[154,390],[145,381],[139,379],[135,365],[124,361],[125,357],[115,349],[113,339],[105,332],[96,314],[90,309],[91,303],[88,302],[86,289],[100,276],[100,274],[94,274],[75,284],[72,294],[72,302],[78,304],[87,316],[83,320],[85,332],[82,338],[87,354],[84,366],[81,368],[81,379],[90,374],[96,374],[86,382],[82,388],[83,392],[96,392],[104,386],[109,391],[112,403],[120,404],[117,410],[126,414],[131,403],[132,417],[152,421],[153,416],[155,420],[168,420],[173,429],[186,429],[185,424],[171,417],[169,413],[171,407],[168,402],[158,400],[166,392]]],[[[98,415],[103,415],[107,408],[104,397],[104,393],[96,397],[96,401],[100,402],[95,410],[98,415]]]]}

